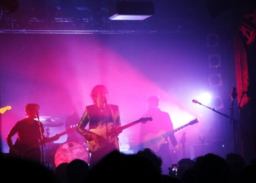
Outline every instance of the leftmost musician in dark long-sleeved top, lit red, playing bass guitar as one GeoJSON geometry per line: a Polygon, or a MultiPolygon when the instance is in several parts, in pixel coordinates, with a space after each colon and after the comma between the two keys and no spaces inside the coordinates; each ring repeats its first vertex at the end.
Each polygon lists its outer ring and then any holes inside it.
{"type": "MultiPolygon", "coordinates": [[[[24,159],[29,159],[41,162],[41,152],[40,146],[34,148],[34,144],[38,144],[38,140],[41,140],[41,132],[39,129],[38,121],[34,120],[36,116],[39,115],[39,105],[38,104],[27,104],[25,107],[26,118],[18,121],[6,136],[7,144],[10,148],[10,154],[14,156],[22,156],[24,159]],[[15,144],[12,144],[12,136],[18,135],[15,144]],[[33,147],[33,148],[32,148],[33,147]],[[26,152],[26,150],[29,150],[26,152]],[[22,154],[22,152],[26,152],[22,154]]],[[[40,128],[42,133],[44,132],[44,127],[40,122],[40,128]]],[[[50,142],[51,140],[58,140],[59,136],[53,136],[52,138],[44,138],[44,142],[50,142]]]]}

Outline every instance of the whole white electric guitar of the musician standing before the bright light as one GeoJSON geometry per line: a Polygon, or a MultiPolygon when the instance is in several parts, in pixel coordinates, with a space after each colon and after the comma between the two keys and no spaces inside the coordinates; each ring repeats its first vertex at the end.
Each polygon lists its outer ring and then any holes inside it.
{"type": "Polygon", "coordinates": [[[168,133],[166,133],[164,130],[161,130],[157,134],[148,133],[143,138],[144,148],[150,148],[154,152],[157,152],[160,149],[161,144],[166,142],[166,137],[168,137],[171,134],[174,134],[175,132],[178,132],[179,130],[187,127],[188,125],[196,124],[198,122],[199,121],[196,118],[196,119],[190,121],[188,124],[180,126],[179,128],[176,128],[175,130],[172,130],[168,133]]]}

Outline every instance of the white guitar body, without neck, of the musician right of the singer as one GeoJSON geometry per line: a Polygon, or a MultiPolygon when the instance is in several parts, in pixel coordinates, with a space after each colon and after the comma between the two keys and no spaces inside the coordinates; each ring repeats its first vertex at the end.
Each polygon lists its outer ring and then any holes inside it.
{"type": "Polygon", "coordinates": [[[160,146],[166,143],[163,135],[166,134],[166,131],[160,130],[157,134],[148,133],[143,138],[144,148],[150,148],[152,151],[157,152],[160,149],[160,146]]]}

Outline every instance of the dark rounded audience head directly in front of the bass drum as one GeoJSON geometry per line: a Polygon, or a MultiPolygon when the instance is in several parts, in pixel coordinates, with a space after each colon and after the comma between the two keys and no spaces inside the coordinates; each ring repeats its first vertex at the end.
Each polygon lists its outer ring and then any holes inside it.
{"type": "Polygon", "coordinates": [[[89,166],[82,159],[74,159],[67,166],[67,177],[69,183],[85,183],[89,166]]]}

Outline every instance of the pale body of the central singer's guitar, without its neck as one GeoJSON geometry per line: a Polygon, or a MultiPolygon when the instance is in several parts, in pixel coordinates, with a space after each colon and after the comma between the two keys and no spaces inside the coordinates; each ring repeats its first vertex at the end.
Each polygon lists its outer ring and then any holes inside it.
{"type": "MultiPolygon", "coordinates": [[[[88,145],[88,148],[91,152],[95,152],[95,151],[98,151],[100,150],[101,148],[104,148],[106,146],[106,142],[107,142],[107,133],[106,133],[106,125],[103,126],[103,127],[98,127],[98,128],[95,128],[95,129],[91,129],[89,130],[90,132],[93,132],[99,136],[102,136],[104,138],[104,142],[102,144],[96,144],[94,142],[94,140],[86,140],[87,142],[87,145],[88,145]]],[[[108,123],[108,131],[111,132],[112,130],[114,130],[114,123],[108,123]]],[[[108,142],[110,144],[114,143],[115,144],[115,147],[118,148],[118,139],[117,139],[117,136],[116,134],[114,135],[109,135],[108,136],[108,142]]]]}

